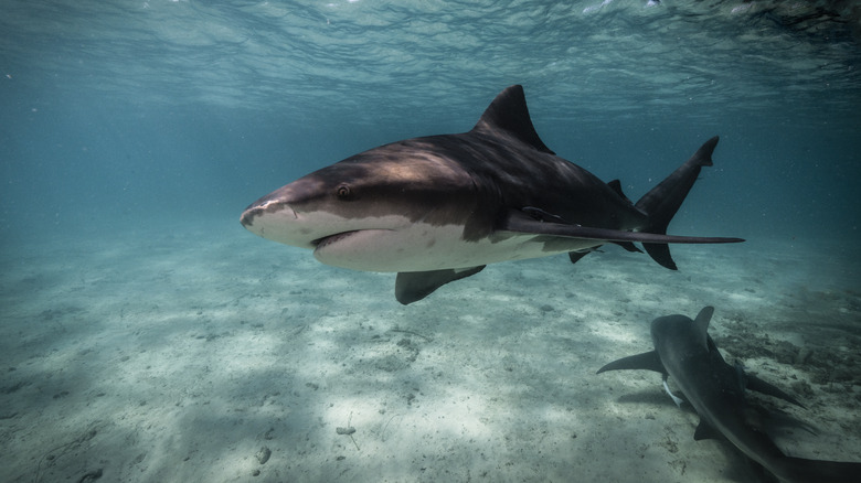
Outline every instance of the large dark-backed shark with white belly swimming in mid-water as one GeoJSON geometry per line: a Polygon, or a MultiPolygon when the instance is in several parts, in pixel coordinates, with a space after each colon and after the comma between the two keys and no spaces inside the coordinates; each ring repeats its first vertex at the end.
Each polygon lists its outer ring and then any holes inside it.
{"type": "Polygon", "coordinates": [[[327,265],[397,272],[403,304],[488,264],[565,253],[576,262],[605,243],[630,251],[642,243],[674,270],[667,244],[743,242],[666,234],[718,139],[634,204],[618,180],[605,183],[551,151],[513,85],[470,131],[352,155],[261,197],[241,222],[327,265]]]}

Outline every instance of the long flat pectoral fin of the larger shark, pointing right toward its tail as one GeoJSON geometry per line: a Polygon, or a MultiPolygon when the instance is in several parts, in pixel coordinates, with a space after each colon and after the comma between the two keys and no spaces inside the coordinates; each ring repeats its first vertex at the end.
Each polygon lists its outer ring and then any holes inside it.
{"type": "MultiPolygon", "coordinates": [[[[591,228],[587,226],[555,223],[541,215],[535,218],[538,208],[528,207],[528,212],[511,211],[500,226],[501,230],[529,233],[533,235],[550,235],[564,238],[596,239],[604,242],[640,242],[653,244],[726,244],[744,242],[741,238],[674,236],[642,232],[626,232],[623,229],[591,228]]],[[[542,212],[543,213],[543,212],[542,212]]],[[[550,218],[552,219],[552,218],[550,218]]]]}

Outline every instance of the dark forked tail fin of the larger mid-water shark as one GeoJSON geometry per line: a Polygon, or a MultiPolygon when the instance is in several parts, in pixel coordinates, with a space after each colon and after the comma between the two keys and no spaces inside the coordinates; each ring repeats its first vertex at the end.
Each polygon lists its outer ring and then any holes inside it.
{"type": "MultiPolygon", "coordinates": [[[[712,165],[712,152],[714,152],[714,147],[718,146],[718,140],[719,138],[715,136],[705,141],[691,159],[685,161],[684,164],[680,165],[672,174],[652,187],[637,202],[636,206],[649,215],[649,223],[641,232],[667,234],[667,225],[670,224],[684,197],[688,196],[693,183],[697,181],[697,176],[700,175],[700,170],[702,167],[712,165]]],[[[666,244],[645,243],[642,247],[658,264],[670,270],[677,269],[676,262],[670,256],[670,247],[666,244]]]]}

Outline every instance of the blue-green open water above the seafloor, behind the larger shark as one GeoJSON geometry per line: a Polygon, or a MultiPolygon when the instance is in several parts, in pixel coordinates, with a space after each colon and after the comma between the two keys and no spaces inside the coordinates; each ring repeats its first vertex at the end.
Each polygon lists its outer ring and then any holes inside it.
{"type": "Polygon", "coordinates": [[[544,141],[633,198],[721,135],[681,229],[857,245],[861,28],[840,6],[10,0],[0,227],[236,216],[523,84],[544,141]]]}

